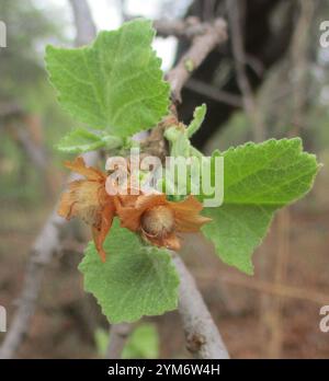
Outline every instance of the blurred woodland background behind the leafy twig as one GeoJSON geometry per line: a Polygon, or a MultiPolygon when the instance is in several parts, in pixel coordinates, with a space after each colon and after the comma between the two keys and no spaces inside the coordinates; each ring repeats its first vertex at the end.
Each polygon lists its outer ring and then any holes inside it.
{"type": "MultiPolygon", "coordinates": [[[[239,3],[252,112],[243,107],[229,38],[188,82],[180,117],[189,122],[195,106],[207,104],[204,127],[194,138],[205,153],[300,136],[325,168],[306,198],[276,215],[254,255],[253,277],[220,263],[201,238],[185,240],[182,255],[232,358],[329,358],[329,333],[319,330],[319,310],[329,304],[329,47],[320,44],[329,2],[239,3]]],[[[223,16],[229,23],[223,0],[94,0],[89,5],[98,30],[138,15],[223,16]]],[[[30,247],[65,184],[61,162],[68,155],[55,145],[77,126],[57,105],[44,50],[49,43],[72,46],[76,25],[69,0],[0,0],[0,20],[7,24],[7,47],[0,48],[0,304],[10,324],[30,247]]],[[[175,37],[157,38],[163,70],[188,46],[175,37]]],[[[77,270],[89,230],[73,222],[63,234],[21,358],[98,358],[107,346],[107,323],[83,292],[77,270]]],[[[138,323],[124,356],[189,357],[178,313],[138,323]]]]}

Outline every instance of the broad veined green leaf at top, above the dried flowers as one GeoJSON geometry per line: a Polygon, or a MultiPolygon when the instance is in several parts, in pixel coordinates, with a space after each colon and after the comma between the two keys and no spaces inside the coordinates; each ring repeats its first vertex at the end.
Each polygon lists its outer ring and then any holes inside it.
{"type": "Polygon", "coordinates": [[[121,137],[155,126],[168,112],[169,84],[151,48],[151,22],[135,20],[99,33],[90,46],[46,48],[50,82],[63,108],[121,137]]]}

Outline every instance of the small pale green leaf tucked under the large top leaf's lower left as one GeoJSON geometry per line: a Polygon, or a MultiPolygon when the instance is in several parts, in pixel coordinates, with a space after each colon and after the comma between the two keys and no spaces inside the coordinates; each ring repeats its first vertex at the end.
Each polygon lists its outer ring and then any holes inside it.
{"type": "Polygon", "coordinates": [[[84,128],[76,128],[68,132],[56,147],[63,152],[81,153],[102,147],[120,148],[122,145],[123,140],[118,137],[97,135],[84,128]]]}

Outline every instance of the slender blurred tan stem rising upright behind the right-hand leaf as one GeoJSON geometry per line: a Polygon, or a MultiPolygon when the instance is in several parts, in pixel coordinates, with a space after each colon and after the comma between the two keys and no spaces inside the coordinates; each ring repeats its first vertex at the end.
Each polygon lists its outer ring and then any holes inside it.
{"type": "MultiPolygon", "coordinates": [[[[305,128],[305,117],[308,107],[308,80],[309,80],[309,50],[311,38],[308,27],[316,10],[314,0],[298,0],[298,20],[296,22],[294,36],[291,47],[291,67],[294,72],[294,85],[292,92],[293,100],[293,128],[288,131],[288,137],[299,136],[305,128]]],[[[291,251],[291,208],[281,210],[277,215],[277,251],[274,258],[274,284],[284,285],[287,281],[287,267],[291,251]]],[[[269,268],[266,274],[269,276],[269,268]]],[[[282,358],[282,347],[284,344],[283,310],[284,298],[269,299],[266,311],[268,328],[270,338],[268,343],[268,357],[282,358]]]]}

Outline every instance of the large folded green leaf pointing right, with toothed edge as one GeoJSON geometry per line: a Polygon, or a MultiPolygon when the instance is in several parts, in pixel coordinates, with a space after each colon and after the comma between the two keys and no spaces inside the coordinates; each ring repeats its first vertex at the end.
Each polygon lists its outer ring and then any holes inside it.
{"type": "Polygon", "coordinates": [[[228,265],[252,274],[251,255],[266,234],[274,211],[303,197],[319,165],[302,140],[268,140],[231,148],[224,155],[224,204],[207,208],[213,222],[203,232],[228,265]]]}

